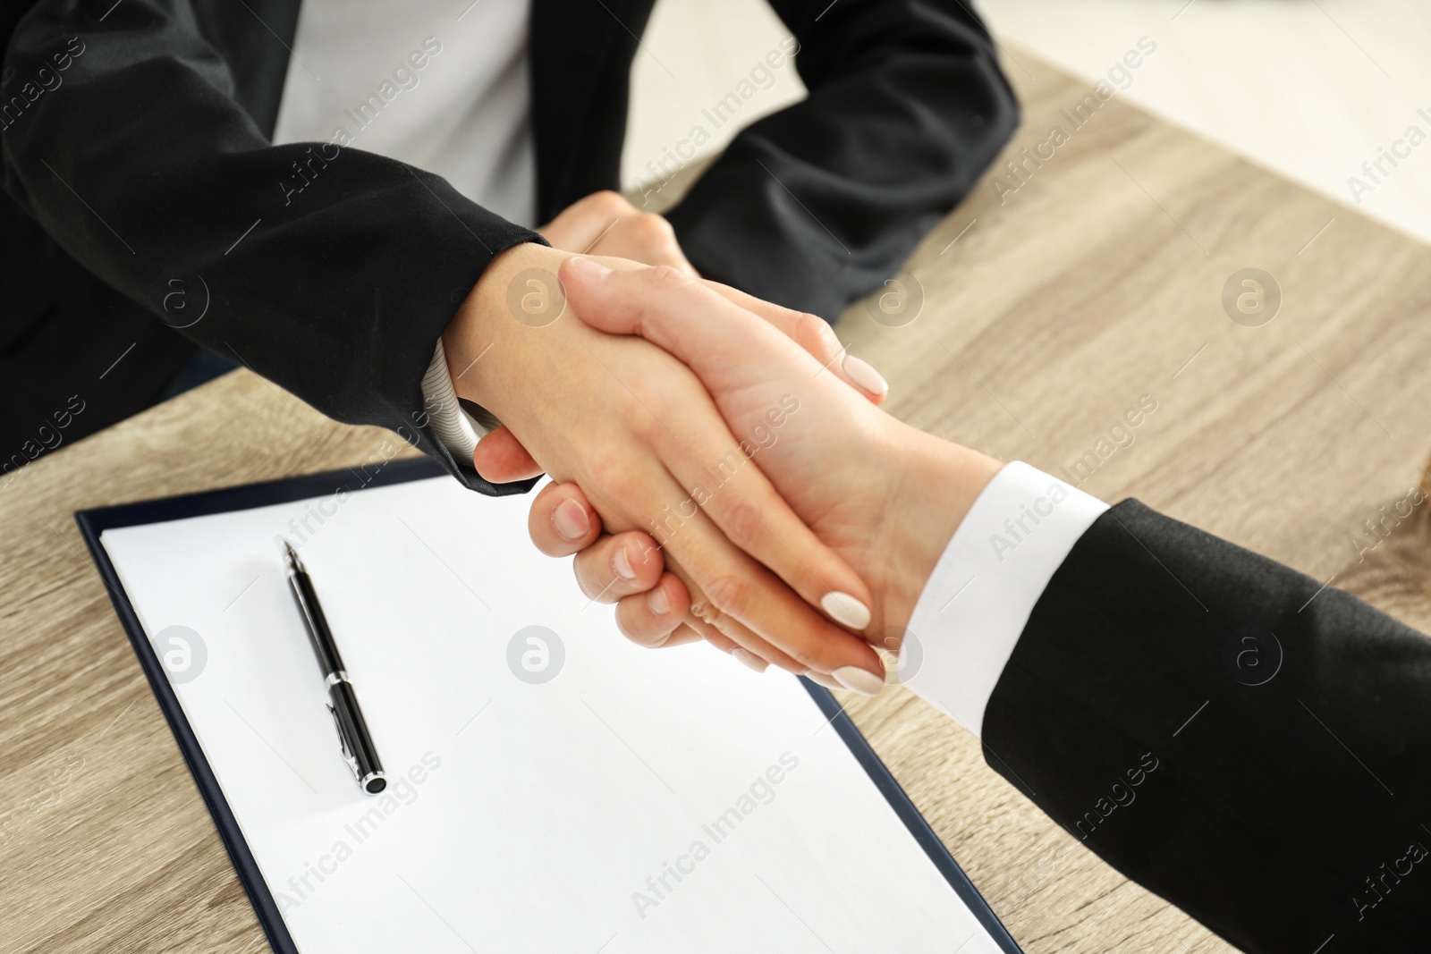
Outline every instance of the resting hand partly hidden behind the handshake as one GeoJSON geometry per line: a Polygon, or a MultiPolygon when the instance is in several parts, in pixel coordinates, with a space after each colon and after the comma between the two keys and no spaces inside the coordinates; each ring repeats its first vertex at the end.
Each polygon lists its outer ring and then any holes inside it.
{"type": "Polygon", "coordinates": [[[562,252],[670,265],[697,275],[671,223],[653,212],[641,212],[617,192],[594,192],[578,199],[538,232],[562,252]]]}

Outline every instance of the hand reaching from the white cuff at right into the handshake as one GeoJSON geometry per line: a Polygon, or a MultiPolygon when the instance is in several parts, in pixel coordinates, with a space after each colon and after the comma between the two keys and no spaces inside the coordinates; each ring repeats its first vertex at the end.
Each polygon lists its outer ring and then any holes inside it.
{"type": "MultiPolygon", "coordinates": [[[[876,645],[897,649],[924,581],[999,462],[860,400],[780,333],[781,319],[768,312],[757,316],[673,269],[604,273],[601,263],[577,260],[562,269],[562,280],[582,320],[614,333],[640,333],[670,350],[700,376],[736,435],[763,441],[754,462],[816,535],[870,584],[874,602],[866,634],[876,645]],[[778,428],[770,413],[776,408],[786,410],[778,428]]],[[[783,320],[817,319],[787,312],[783,320]]],[[[580,506],[580,491],[552,485],[534,502],[531,529],[544,549],[551,545],[554,503],[580,506]]],[[[653,555],[654,544],[621,545],[653,555]]],[[[602,541],[578,555],[584,586],[604,581],[611,546],[602,541]]],[[[644,599],[640,591],[622,598],[624,625],[660,625],[647,615],[644,599]]]]}

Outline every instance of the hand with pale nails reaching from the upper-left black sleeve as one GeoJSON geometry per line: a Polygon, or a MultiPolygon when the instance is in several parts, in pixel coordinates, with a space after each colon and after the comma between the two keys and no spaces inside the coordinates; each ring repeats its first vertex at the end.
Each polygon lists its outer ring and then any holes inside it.
{"type": "MultiPolygon", "coordinates": [[[[869,588],[748,463],[688,368],[648,342],[575,320],[555,277],[568,257],[538,245],[499,255],[442,342],[458,396],[495,413],[552,479],[582,488],[590,505],[564,511],[565,522],[554,516],[554,526],[661,535],[670,572],[651,574],[651,555],[630,554],[615,565],[631,572],[608,581],[605,595],[643,592],[654,612],[660,599],[644,592],[654,581],[667,596],[655,615],[680,622],[688,594],[694,632],[716,642],[793,672],[881,672],[863,639],[813,609],[859,629],[869,622],[869,588]]],[[[494,479],[487,446],[474,465],[494,479]]]]}

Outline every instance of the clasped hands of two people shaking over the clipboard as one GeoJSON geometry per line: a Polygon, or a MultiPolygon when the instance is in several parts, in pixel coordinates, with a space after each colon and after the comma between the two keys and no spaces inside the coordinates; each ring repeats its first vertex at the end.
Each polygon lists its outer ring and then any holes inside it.
{"type": "Polygon", "coordinates": [[[581,225],[610,216],[581,206],[547,235],[591,255],[504,252],[444,333],[458,395],[502,421],[478,473],[551,475],[532,541],[574,554],[633,641],[705,639],[753,669],[877,694],[874,648],[899,652],[1000,463],[880,410],[883,378],[824,320],[697,277],[660,219],[617,217],[588,242],[581,225]],[[514,320],[507,290],[531,269],[560,279],[564,320],[514,320]]]}

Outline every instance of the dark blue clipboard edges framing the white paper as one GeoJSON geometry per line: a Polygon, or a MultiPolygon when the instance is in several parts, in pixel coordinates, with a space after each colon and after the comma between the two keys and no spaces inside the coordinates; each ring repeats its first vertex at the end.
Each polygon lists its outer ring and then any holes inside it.
{"type": "MultiPolygon", "coordinates": [[[[356,492],[371,486],[422,481],[426,478],[441,476],[442,473],[442,468],[435,461],[428,458],[412,458],[392,461],[386,463],[382,471],[372,475],[359,475],[356,471],[328,471],[323,473],[309,473],[305,476],[270,481],[266,483],[248,483],[243,486],[205,491],[202,493],[189,493],[160,501],[140,501],[137,503],[122,503],[119,506],[80,511],[74,515],[74,522],[80,526],[80,533],[84,536],[84,544],[89,546],[90,556],[94,558],[99,575],[109,588],[109,596],[114,604],[114,612],[119,614],[119,621],[123,624],[124,632],[129,634],[129,641],[135,648],[135,655],[139,657],[139,665],[149,678],[149,688],[153,689],[155,697],[159,699],[159,708],[163,709],[165,718],[169,721],[169,728],[175,734],[175,741],[179,742],[179,751],[183,752],[185,762],[189,764],[193,781],[199,787],[199,794],[203,795],[203,801],[209,807],[209,814],[213,815],[213,824],[218,827],[219,837],[223,838],[223,847],[228,848],[229,858],[233,861],[233,867],[239,872],[243,890],[248,891],[249,901],[253,904],[253,911],[259,917],[259,924],[263,925],[263,933],[268,935],[269,944],[278,954],[299,954],[299,951],[293,944],[293,938],[288,933],[288,925],[283,924],[283,917],[279,914],[278,903],[273,900],[268,884],[263,881],[263,875],[259,872],[258,862],[253,860],[253,852],[249,851],[249,845],[243,840],[243,832],[239,830],[238,820],[233,817],[228,801],[223,798],[223,791],[219,788],[219,780],[213,775],[213,769],[209,767],[209,759],[205,758],[203,749],[199,747],[199,739],[189,727],[189,721],[185,718],[183,709],[179,705],[179,697],[169,684],[169,677],[165,674],[159,658],[155,655],[153,646],[145,635],[143,626],[139,625],[139,616],[135,615],[135,608],[130,606],[129,596],[124,594],[124,588],[119,581],[119,574],[114,572],[114,565],[110,562],[109,555],[100,545],[99,536],[104,531],[119,526],[160,523],[165,521],[185,519],[187,516],[245,511],[258,506],[269,506],[272,503],[289,503],[312,496],[333,493],[339,488],[356,492]]],[[[929,855],[929,860],[936,868],[939,868],[940,874],[944,875],[944,880],[949,881],[949,887],[954,890],[954,894],[959,895],[979,923],[989,931],[995,943],[999,944],[999,948],[1003,950],[1005,954],[1023,954],[1019,944],[1009,934],[1009,930],[1002,921],[999,921],[999,917],[993,913],[993,908],[989,907],[989,903],[985,901],[983,895],[979,894],[973,881],[969,880],[969,875],[964,874],[963,868],[959,867],[959,862],[949,854],[949,850],[939,840],[939,835],[934,834],[934,830],[930,828],[929,822],[924,821],[924,817],[919,814],[914,802],[910,801],[904,790],[900,788],[900,784],[894,781],[894,775],[892,775],[884,762],[880,761],[880,757],[874,754],[869,739],[866,739],[860,729],[856,728],[853,719],[850,719],[849,714],[834,695],[829,689],[819,687],[809,679],[801,678],[800,682],[804,685],[806,691],[810,692],[810,698],[813,698],[814,704],[820,707],[820,711],[830,719],[830,724],[840,734],[844,744],[850,747],[850,752],[854,754],[860,767],[869,772],[876,787],[879,787],[880,792],[884,794],[890,808],[894,810],[894,814],[899,815],[900,821],[904,822],[904,827],[909,828],[910,835],[913,835],[914,841],[924,850],[924,854],[929,855]]]]}

